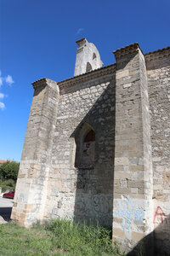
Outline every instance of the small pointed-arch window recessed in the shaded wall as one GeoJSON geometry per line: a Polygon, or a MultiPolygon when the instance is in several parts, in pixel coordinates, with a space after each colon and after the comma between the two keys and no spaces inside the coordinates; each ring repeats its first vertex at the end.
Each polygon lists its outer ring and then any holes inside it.
{"type": "Polygon", "coordinates": [[[94,166],[95,132],[88,131],[82,143],[82,166],[94,166]]]}

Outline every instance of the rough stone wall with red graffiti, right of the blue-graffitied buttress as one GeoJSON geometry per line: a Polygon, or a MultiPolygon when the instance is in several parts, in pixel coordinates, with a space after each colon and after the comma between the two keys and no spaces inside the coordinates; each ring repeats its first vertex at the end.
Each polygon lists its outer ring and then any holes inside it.
{"type": "Polygon", "coordinates": [[[170,252],[170,49],[145,56],[153,161],[153,224],[156,251],[170,252]]]}

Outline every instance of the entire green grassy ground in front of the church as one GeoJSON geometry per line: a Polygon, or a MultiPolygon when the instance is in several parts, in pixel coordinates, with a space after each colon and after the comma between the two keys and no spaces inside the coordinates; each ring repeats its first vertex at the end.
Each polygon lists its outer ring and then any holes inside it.
{"type": "Polygon", "coordinates": [[[52,220],[47,225],[37,224],[31,229],[14,223],[0,225],[0,255],[68,255],[110,256],[123,255],[112,247],[111,231],[103,227],[52,220]]]}

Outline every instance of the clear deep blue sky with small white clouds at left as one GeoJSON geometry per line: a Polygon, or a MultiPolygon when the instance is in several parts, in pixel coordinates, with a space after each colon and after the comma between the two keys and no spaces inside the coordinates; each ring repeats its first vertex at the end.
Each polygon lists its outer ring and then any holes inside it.
{"type": "Polygon", "coordinates": [[[73,76],[77,39],[112,51],[138,42],[144,53],[170,45],[169,0],[0,0],[0,159],[20,161],[31,83],[73,76]]]}

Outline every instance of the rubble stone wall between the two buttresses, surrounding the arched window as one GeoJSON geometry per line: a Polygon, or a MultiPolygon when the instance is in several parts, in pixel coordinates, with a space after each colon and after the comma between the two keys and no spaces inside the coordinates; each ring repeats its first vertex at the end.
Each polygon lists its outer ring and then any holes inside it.
{"type": "Polygon", "coordinates": [[[115,74],[63,88],[54,131],[46,218],[112,224],[115,74]],[[75,166],[77,143],[95,132],[94,166],[75,166]],[[87,131],[87,132],[86,132],[87,131]],[[78,138],[78,139],[77,139],[78,138]]]}

